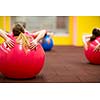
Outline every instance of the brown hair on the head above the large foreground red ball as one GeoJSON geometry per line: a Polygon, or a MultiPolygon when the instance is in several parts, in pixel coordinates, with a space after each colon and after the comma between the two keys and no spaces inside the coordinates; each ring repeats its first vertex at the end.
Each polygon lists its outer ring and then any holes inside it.
{"type": "Polygon", "coordinates": [[[12,31],[13,31],[13,35],[14,36],[19,36],[21,32],[22,33],[25,32],[24,31],[24,27],[21,24],[19,24],[19,23],[17,23],[17,24],[14,25],[12,31]]]}

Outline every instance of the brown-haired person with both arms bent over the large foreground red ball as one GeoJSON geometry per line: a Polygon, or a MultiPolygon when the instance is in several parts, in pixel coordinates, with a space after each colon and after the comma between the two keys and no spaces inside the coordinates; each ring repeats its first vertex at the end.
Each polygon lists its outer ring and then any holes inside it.
{"type": "MultiPolygon", "coordinates": [[[[1,33],[1,36],[6,40],[7,45],[9,47],[13,47],[14,44],[13,44],[11,38],[7,37],[8,34],[3,30],[1,30],[0,33],[1,33]]],[[[40,31],[34,33],[32,35],[32,37],[33,37],[32,41],[29,44],[27,44],[27,46],[31,50],[34,49],[37,46],[38,42],[45,36],[45,34],[46,34],[46,30],[40,30],[40,31]]],[[[25,32],[24,27],[20,23],[17,23],[13,26],[12,36],[15,37],[16,40],[19,42],[20,42],[20,40],[23,40],[23,38],[25,39],[26,37],[30,37],[30,35],[25,32]]]]}

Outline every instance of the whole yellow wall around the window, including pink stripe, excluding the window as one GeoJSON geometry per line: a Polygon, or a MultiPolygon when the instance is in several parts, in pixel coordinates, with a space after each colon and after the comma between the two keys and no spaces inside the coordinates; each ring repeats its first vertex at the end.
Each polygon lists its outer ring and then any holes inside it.
{"type": "MultiPolygon", "coordinates": [[[[0,16],[0,28],[10,32],[10,17],[0,16]]],[[[69,16],[68,35],[54,36],[54,45],[83,46],[82,35],[91,33],[94,27],[100,27],[99,16],[69,16]]],[[[0,38],[0,43],[3,39],[0,38]]]]}

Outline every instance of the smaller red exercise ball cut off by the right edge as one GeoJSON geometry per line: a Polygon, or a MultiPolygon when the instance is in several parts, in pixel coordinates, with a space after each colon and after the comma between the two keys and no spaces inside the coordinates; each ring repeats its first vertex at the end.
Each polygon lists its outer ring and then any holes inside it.
{"type": "Polygon", "coordinates": [[[97,46],[98,42],[100,43],[100,37],[97,37],[89,44],[88,50],[84,50],[86,58],[92,64],[100,64],[100,52],[94,51],[94,48],[97,46]]]}

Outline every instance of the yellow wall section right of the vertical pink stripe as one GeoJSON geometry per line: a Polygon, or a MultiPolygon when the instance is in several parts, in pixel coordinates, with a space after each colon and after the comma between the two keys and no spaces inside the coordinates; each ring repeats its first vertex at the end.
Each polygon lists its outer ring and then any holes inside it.
{"type": "Polygon", "coordinates": [[[76,46],[82,46],[82,35],[84,33],[91,34],[94,27],[100,27],[99,16],[77,16],[77,36],[76,46]]]}

